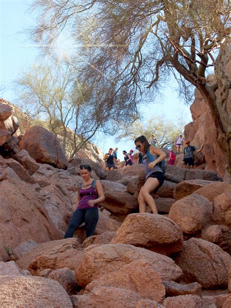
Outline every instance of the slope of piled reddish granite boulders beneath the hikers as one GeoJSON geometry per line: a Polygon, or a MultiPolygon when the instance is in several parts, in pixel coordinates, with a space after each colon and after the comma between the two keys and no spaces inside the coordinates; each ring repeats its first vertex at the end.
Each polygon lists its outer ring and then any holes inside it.
{"type": "Polygon", "coordinates": [[[217,173],[168,166],[159,214],[138,213],[142,164],[106,173],[88,158],[68,162],[39,126],[17,149],[0,156],[1,307],[231,306],[231,184],[217,173]],[[80,226],[62,239],[83,163],[104,210],[94,236],[80,226]]]}

